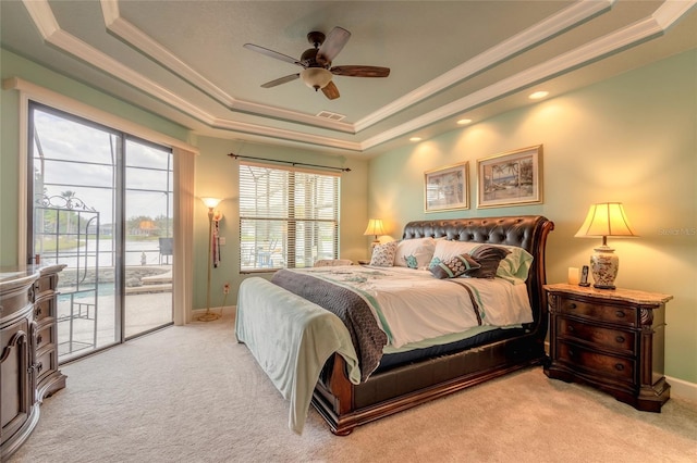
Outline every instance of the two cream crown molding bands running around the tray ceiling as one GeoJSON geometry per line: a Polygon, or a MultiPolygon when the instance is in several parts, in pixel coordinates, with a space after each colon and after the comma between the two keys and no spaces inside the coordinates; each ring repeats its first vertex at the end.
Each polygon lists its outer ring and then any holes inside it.
{"type": "MultiPolygon", "coordinates": [[[[105,24],[112,34],[122,38],[132,47],[150,57],[180,78],[194,85],[201,92],[208,95],[210,98],[224,104],[231,110],[253,115],[292,121],[303,125],[328,128],[342,133],[357,134],[360,130],[384,121],[396,112],[442,91],[444,88],[465,80],[488,67],[504,62],[527,49],[534,48],[552,37],[576,27],[596,15],[609,11],[616,0],[576,2],[558,14],[549,16],[536,26],[511,37],[472,60],[454,67],[442,76],[405,95],[399,100],[395,100],[391,104],[369,114],[356,124],[322,120],[295,111],[234,99],[207,80],[204,76],[198,74],[164,47],[150,39],[127,21],[123,20],[119,15],[118,0],[100,0],[100,2],[105,24]]],[[[36,24],[39,34],[41,34],[47,42],[86,63],[89,63],[106,74],[109,74],[134,88],[138,88],[159,101],[162,101],[172,108],[176,108],[182,113],[200,121],[210,128],[240,132],[267,139],[276,138],[292,140],[299,143],[309,143],[360,152],[424,126],[451,117],[457,113],[466,112],[475,107],[519,91],[534,84],[565,74],[583,66],[584,64],[600,60],[643,41],[661,36],[685,14],[687,14],[695,7],[697,0],[665,0],[651,16],[646,17],[645,20],[600,37],[516,75],[501,79],[498,83],[455,100],[442,108],[421,114],[420,116],[404,124],[384,130],[364,140],[363,142],[345,141],[332,137],[314,136],[299,130],[272,128],[259,124],[240,123],[216,117],[197,107],[195,103],[179,97],[151,79],[138,74],[119,61],[113,60],[71,34],[62,30],[56,21],[47,0],[23,0],[23,3],[29,12],[33,22],[36,24]]]]}

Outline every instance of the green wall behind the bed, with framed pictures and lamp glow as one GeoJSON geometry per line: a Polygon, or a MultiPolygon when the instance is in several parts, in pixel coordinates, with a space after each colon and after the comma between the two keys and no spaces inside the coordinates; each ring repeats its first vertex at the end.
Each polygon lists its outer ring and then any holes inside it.
{"type": "Polygon", "coordinates": [[[600,240],[574,238],[594,202],[621,201],[640,235],[612,239],[620,287],[669,293],[665,374],[697,383],[697,50],[370,162],[370,216],[399,237],[409,220],[543,214],[554,221],[548,280],[587,264],[600,240]],[[542,204],[476,209],[477,160],[543,145],[542,204]],[[424,171],[469,161],[466,211],[424,212],[424,171]]]}

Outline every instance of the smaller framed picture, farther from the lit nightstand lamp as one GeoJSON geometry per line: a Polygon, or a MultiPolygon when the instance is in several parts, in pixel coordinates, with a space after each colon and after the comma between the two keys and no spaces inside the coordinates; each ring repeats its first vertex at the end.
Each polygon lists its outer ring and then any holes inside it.
{"type": "Polygon", "coordinates": [[[469,209],[469,163],[424,173],[426,212],[469,209]]]}

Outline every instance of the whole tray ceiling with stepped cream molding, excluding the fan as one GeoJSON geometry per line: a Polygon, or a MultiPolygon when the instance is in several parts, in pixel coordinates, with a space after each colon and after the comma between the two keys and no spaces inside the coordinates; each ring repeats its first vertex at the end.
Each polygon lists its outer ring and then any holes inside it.
{"type": "Polygon", "coordinates": [[[2,47],[195,134],[370,157],[697,46],[695,1],[2,1],[2,47]],[[301,79],[307,34],[352,36],[328,100],[301,79]]]}

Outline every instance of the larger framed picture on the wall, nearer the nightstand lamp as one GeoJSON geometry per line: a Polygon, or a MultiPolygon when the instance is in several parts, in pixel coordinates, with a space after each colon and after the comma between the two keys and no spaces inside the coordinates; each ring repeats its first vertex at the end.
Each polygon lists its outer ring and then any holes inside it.
{"type": "Polygon", "coordinates": [[[477,160],[477,208],[542,202],[542,146],[477,160]]]}

